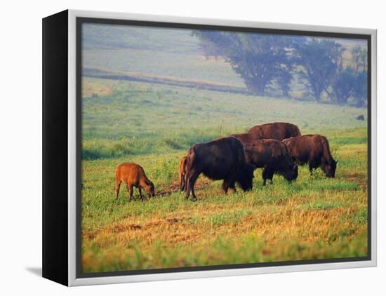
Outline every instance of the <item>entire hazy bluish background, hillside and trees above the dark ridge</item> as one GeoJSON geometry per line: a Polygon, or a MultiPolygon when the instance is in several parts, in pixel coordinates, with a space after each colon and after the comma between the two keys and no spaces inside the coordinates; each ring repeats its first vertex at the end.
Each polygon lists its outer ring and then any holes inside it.
{"type": "Polygon", "coordinates": [[[84,76],[366,106],[364,40],[98,24],[83,36],[84,76]]]}

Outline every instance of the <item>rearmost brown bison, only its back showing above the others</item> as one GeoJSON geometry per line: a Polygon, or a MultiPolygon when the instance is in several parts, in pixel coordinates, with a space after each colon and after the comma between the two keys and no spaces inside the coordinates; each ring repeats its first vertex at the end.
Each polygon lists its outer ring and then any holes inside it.
{"type": "Polygon", "coordinates": [[[284,140],[288,137],[298,137],[300,130],[298,126],[286,122],[266,123],[261,126],[253,126],[248,133],[259,135],[263,139],[284,140]]]}

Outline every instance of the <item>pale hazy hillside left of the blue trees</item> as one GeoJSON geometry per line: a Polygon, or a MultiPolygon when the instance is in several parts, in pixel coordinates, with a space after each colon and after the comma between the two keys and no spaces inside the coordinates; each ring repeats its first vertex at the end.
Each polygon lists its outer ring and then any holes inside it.
{"type": "Polygon", "coordinates": [[[86,68],[245,87],[224,60],[206,60],[199,39],[190,29],[86,24],[83,33],[83,66],[86,68]]]}

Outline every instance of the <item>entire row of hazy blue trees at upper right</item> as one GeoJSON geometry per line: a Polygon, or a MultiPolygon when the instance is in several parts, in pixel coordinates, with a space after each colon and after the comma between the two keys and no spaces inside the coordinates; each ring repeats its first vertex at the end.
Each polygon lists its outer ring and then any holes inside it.
{"type": "Polygon", "coordinates": [[[274,34],[195,31],[207,58],[222,57],[244,80],[248,93],[280,90],[291,97],[293,79],[314,100],[367,104],[367,50],[348,51],[334,39],[274,34]],[[344,55],[350,56],[345,59],[344,55]]]}

